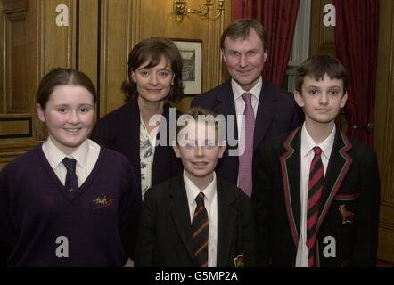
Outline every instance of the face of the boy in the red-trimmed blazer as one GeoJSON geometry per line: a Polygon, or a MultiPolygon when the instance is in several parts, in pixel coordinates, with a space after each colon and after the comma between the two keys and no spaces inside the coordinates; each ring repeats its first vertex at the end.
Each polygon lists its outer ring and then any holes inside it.
{"type": "Polygon", "coordinates": [[[348,94],[343,93],[343,81],[331,79],[324,74],[323,80],[306,76],[301,94],[294,92],[294,98],[304,110],[307,124],[334,124],[336,116],[345,106],[348,94]]]}

